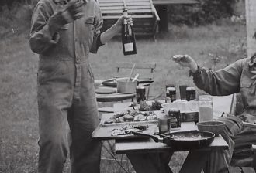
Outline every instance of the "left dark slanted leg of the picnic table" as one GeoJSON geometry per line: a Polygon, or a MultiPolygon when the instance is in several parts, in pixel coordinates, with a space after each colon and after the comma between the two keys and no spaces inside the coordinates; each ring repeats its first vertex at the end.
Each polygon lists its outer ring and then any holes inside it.
{"type": "Polygon", "coordinates": [[[172,173],[168,166],[173,152],[126,154],[136,173],[172,173]]]}

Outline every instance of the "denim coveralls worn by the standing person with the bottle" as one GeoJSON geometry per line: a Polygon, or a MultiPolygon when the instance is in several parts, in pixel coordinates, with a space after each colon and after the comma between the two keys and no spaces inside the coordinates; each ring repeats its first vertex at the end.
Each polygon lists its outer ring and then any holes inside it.
{"type": "Polygon", "coordinates": [[[32,17],[30,47],[40,54],[38,110],[40,173],[61,173],[67,158],[66,120],[71,129],[71,171],[99,172],[101,143],[93,141],[99,124],[94,78],[88,63],[100,42],[102,15],[95,0],[83,4],[84,17],[61,25],[54,0],[40,0],[32,17]]]}

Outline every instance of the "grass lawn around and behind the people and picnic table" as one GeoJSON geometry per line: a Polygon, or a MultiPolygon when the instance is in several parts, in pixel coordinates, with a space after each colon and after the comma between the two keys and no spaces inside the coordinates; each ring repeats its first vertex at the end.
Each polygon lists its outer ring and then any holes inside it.
{"type": "MultiPolygon", "coordinates": [[[[246,56],[245,25],[223,23],[197,28],[170,25],[170,32],[157,35],[155,40],[137,39],[136,56],[123,56],[120,39],[113,39],[90,58],[95,79],[108,79],[115,70],[116,62],[155,62],[155,83],[150,96],[163,93],[165,83],[194,86],[188,70],[170,60],[172,55],[189,54],[199,66],[216,70],[246,56]]],[[[27,36],[21,34],[0,41],[0,173],[36,172],[39,149],[36,104],[38,58],[29,50],[27,36]]],[[[174,172],[178,172],[185,154],[176,155],[170,162],[174,172]]],[[[68,165],[64,172],[67,168],[68,165]]],[[[119,171],[119,166],[113,165],[112,161],[102,160],[102,172],[123,171],[119,171]]]]}

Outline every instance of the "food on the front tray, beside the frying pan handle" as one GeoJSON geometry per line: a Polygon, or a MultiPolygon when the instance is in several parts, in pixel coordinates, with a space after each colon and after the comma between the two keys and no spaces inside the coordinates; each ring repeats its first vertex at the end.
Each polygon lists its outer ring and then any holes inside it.
{"type": "Polygon", "coordinates": [[[148,125],[125,125],[123,127],[114,128],[111,131],[112,136],[132,134],[132,131],[142,132],[148,128],[148,125]]]}

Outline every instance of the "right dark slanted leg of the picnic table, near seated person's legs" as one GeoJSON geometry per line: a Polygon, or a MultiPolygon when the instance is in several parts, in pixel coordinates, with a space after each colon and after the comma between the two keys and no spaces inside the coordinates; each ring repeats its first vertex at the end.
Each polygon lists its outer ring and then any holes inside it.
{"type": "Polygon", "coordinates": [[[193,173],[201,173],[206,166],[211,151],[189,151],[187,158],[182,165],[180,173],[187,173],[193,170],[193,173]]]}

